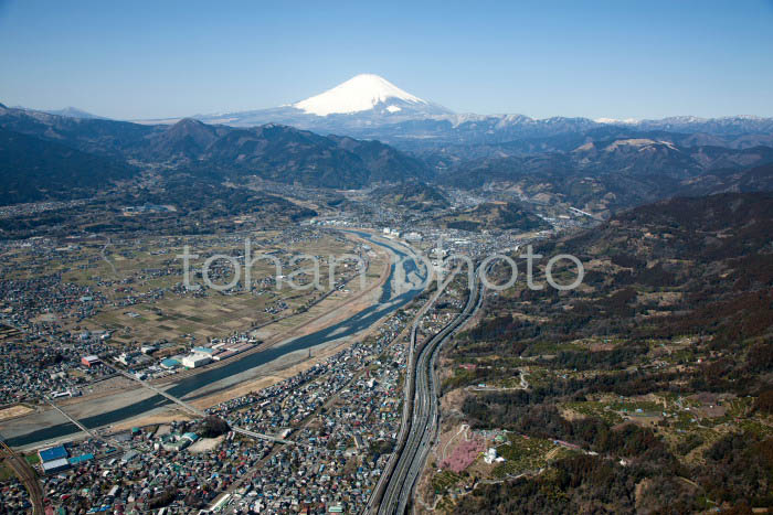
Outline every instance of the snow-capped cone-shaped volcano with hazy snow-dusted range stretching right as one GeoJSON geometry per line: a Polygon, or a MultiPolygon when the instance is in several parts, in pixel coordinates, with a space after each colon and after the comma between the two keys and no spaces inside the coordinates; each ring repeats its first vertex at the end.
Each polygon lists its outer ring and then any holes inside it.
{"type": "Polygon", "coordinates": [[[582,144],[586,142],[585,136],[589,131],[601,131],[608,136],[621,130],[626,131],[623,135],[625,137],[633,137],[628,133],[631,131],[665,130],[701,133],[707,136],[697,138],[696,143],[739,148],[773,142],[773,119],[771,118],[674,117],[663,120],[611,118],[592,120],[568,117],[534,119],[523,115],[456,114],[438,104],[407,93],[373,74],[357,75],[324,93],[276,108],[198,115],[193,118],[207,124],[233,127],[282,124],[322,135],[333,133],[380,140],[403,150],[443,146],[496,146],[518,141],[528,143],[527,150],[538,151],[554,147],[555,138],[568,138],[571,144],[582,144]],[[542,141],[546,138],[551,140],[542,141]],[[578,138],[582,141],[575,141],[578,138]]]}

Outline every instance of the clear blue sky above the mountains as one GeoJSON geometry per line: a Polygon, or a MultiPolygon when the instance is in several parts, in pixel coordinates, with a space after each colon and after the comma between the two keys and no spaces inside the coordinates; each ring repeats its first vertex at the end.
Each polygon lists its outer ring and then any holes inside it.
{"type": "Polygon", "coordinates": [[[118,3],[0,0],[0,101],[178,117],[375,73],[458,112],[773,116],[773,0],[118,3]]]}

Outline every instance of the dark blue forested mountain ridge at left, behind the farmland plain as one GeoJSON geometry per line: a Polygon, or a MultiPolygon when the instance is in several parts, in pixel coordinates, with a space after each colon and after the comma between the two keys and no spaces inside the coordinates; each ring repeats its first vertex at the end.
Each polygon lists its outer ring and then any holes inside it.
{"type": "MultiPolygon", "coordinates": [[[[45,178],[32,173],[42,170],[36,161],[40,152],[47,155],[43,169],[49,173],[55,175],[57,168],[68,171],[59,183],[63,192],[82,184],[92,190],[104,186],[116,175],[106,173],[115,165],[134,171],[137,167],[161,165],[210,179],[257,175],[288,184],[340,189],[432,175],[422,161],[384,143],[325,137],[277,124],[234,128],[183,119],[173,126],[147,126],[0,108],[0,128],[18,136],[7,139],[6,154],[12,159],[2,164],[12,163],[18,171],[25,171],[31,179],[30,191],[38,192],[15,196],[9,192],[7,202],[46,197],[42,193],[49,191],[45,178]],[[41,150],[24,151],[35,146],[41,150]],[[89,162],[91,158],[91,168],[73,164],[89,162]]],[[[22,176],[18,179],[23,183],[22,176]]]]}

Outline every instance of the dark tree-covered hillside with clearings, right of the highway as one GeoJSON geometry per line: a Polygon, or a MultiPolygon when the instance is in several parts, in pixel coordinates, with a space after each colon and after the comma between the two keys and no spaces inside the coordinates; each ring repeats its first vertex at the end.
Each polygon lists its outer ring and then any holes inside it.
{"type": "Polygon", "coordinates": [[[769,193],[674,199],[536,248],[578,256],[584,285],[490,296],[446,353],[444,394],[464,393],[446,417],[578,450],[453,513],[773,505],[772,219],[769,193]]]}

